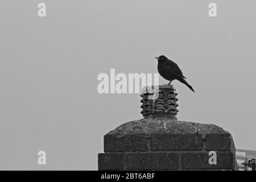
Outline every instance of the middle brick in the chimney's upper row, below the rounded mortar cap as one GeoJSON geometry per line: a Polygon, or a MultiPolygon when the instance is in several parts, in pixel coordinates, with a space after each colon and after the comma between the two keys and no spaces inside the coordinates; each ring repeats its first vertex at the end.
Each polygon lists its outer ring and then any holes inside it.
{"type": "Polygon", "coordinates": [[[202,150],[201,134],[152,134],[152,151],[202,150]]]}

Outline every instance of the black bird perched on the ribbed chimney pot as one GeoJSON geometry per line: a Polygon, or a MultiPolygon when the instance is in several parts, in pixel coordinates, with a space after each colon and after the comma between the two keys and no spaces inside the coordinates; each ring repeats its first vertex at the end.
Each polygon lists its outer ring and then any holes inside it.
{"type": "Polygon", "coordinates": [[[185,79],[186,77],[183,76],[183,73],[181,72],[180,68],[174,61],[168,60],[166,56],[159,56],[155,57],[158,59],[158,72],[159,74],[166,80],[170,81],[168,85],[171,84],[172,80],[179,80],[181,83],[188,86],[189,89],[191,89],[193,92],[195,90],[192,88],[191,85],[188,84],[185,79]]]}

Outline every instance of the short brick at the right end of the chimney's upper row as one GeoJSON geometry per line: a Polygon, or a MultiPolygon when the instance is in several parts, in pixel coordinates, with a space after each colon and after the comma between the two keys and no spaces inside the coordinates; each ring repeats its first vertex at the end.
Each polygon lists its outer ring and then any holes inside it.
{"type": "Polygon", "coordinates": [[[229,133],[226,134],[206,134],[205,150],[214,151],[232,151],[233,139],[229,133]]]}

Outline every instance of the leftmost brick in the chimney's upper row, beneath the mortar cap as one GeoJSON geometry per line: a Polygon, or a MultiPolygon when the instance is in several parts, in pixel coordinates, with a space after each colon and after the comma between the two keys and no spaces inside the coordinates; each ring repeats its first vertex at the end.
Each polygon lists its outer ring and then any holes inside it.
{"type": "Polygon", "coordinates": [[[147,151],[146,135],[104,136],[104,151],[147,151]]]}

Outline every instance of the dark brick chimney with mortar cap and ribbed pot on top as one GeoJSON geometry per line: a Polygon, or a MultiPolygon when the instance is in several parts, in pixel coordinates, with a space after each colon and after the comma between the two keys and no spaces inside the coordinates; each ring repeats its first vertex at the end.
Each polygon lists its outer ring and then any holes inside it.
{"type": "Polygon", "coordinates": [[[216,125],[177,121],[173,85],[147,86],[143,119],[104,136],[99,170],[237,170],[232,135],[216,125]]]}

